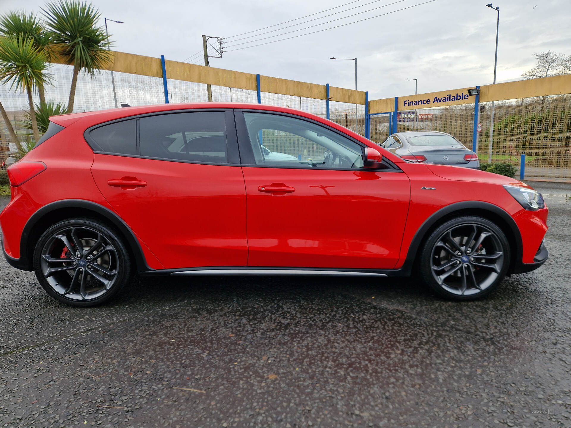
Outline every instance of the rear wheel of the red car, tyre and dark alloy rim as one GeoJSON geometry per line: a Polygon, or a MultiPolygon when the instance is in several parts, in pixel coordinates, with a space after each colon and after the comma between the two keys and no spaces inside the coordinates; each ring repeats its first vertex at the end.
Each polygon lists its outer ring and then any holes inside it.
{"type": "Polygon", "coordinates": [[[34,271],[50,296],[71,306],[111,300],[130,280],[131,261],[119,234],[101,221],[60,221],[34,249],[34,271]]]}

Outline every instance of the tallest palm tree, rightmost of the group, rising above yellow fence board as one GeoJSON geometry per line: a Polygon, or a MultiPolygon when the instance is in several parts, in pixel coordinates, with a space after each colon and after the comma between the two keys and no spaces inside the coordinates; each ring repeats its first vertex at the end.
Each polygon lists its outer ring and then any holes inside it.
{"type": "Polygon", "coordinates": [[[73,64],[70,98],[67,111],[73,112],[75,87],[79,71],[94,76],[111,59],[110,46],[105,31],[97,26],[98,9],[91,3],[77,0],[59,0],[47,3],[42,9],[46,23],[52,32],[53,42],[58,45],[59,55],[73,64]]]}

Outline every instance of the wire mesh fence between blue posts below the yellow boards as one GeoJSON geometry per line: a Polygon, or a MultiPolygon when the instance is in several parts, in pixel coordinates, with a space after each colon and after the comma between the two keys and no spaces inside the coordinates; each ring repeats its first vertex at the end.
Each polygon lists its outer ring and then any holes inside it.
{"type": "MultiPolygon", "coordinates": [[[[46,87],[46,99],[67,104],[73,68],[53,64],[50,72],[54,85],[46,87]]],[[[102,71],[95,76],[79,75],[74,112],[115,108],[113,86],[118,104],[144,106],[164,103],[162,78],[122,72],[111,75],[110,71],[102,71]]],[[[208,101],[206,84],[167,79],[167,87],[171,103],[208,101]]],[[[212,85],[211,94],[214,102],[258,102],[258,94],[252,90],[212,85]]],[[[263,104],[294,108],[323,118],[327,115],[327,103],[322,99],[263,91],[260,95],[263,104]]],[[[0,85],[0,101],[19,140],[23,143],[32,142],[31,130],[22,126],[29,110],[26,95],[3,84],[0,85]]],[[[472,148],[473,104],[399,111],[396,130],[392,130],[391,116],[370,116],[371,140],[382,143],[391,131],[442,131],[472,148]]],[[[365,135],[363,105],[331,101],[329,118],[349,130],[365,135]]],[[[491,103],[481,103],[478,121],[482,124],[482,132],[477,135],[477,153],[481,161],[491,158],[493,162],[504,161],[518,167],[521,155],[525,154],[526,178],[571,179],[571,95],[496,102],[491,152],[490,119],[491,103]]],[[[13,143],[7,144],[8,135],[6,124],[0,118],[0,162],[15,151],[13,143]]]]}

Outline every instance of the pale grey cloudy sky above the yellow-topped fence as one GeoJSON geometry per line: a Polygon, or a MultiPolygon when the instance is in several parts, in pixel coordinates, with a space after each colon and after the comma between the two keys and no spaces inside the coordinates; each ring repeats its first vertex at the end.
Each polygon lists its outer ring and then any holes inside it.
{"type": "MultiPolygon", "coordinates": [[[[359,90],[368,90],[369,99],[413,94],[414,82],[407,78],[419,79],[419,93],[492,83],[497,15],[485,6],[489,0],[434,0],[415,6],[426,1],[93,0],[93,4],[102,17],[124,21],[109,23],[109,31],[113,49],[128,53],[182,61],[202,49],[201,35],[207,34],[227,38],[227,52],[211,59],[213,67],[348,88],[355,84],[354,63],[329,58],[357,57],[359,90]],[[326,9],[331,10],[315,14],[326,9]],[[370,9],[375,10],[360,13],[370,9]],[[315,15],[273,26],[310,14],[315,15]],[[320,18],[329,14],[334,15],[320,18]],[[352,14],[357,15],[347,17],[352,14]],[[231,51],[381,14],[386,15],[231,51]],[[315,20],[306,22],[310,19],[315,20]],[[268,26],[273,27],[232,37],[268,26]],[[247,36],[254,37],[237,40],[247,36]],[[250,43],[238,45],[243,42],[250,43]]],[[[44,4],[0,0],[0,12],[22,7],[39,11],[44,4]]],[[[533,67],[534,52],[571,55],[571,1],[501,0],[493,5],[500,7],[497,82],[520,79],[522,72],[533,67]]],[[[196,56],[196,63],[200,60],[196,56]]]]}

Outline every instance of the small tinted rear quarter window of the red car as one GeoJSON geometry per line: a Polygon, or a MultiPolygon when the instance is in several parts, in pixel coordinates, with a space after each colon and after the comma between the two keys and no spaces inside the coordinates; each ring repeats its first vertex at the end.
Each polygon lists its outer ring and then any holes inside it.
{"type": "Polygon", "coordinates": [[[123,120],[91,130],[90,146],[96,152],[136,155],[135,119],[123,120]]]}

